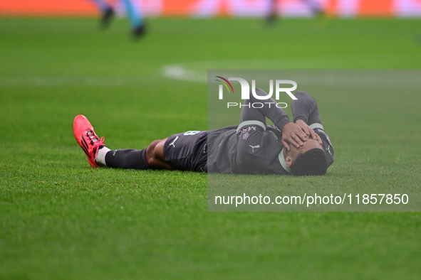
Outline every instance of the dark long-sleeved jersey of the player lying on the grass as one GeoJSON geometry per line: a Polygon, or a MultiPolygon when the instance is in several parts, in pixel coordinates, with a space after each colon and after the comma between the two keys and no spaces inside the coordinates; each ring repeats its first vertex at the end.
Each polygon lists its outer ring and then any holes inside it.
{"type": "MultiPolygon", "coordinates": [[[[330,166],[334,158],[333,147],[321,124],[316,100],[306,92],[296,92],[296,97],[298,100],[291,104],[294,121],[303,119],[321,137],[330,166]]],[[[208,132],[207,171],[237,174],[291,173],[291,169],[286,166],[284,145],[281,142],[281,130],[288,122],[291,121],[280,108],[263,111],[243,107],[238,126],[208,132]],[[277,125],[267,126],[266,117],[277,125]]]]}

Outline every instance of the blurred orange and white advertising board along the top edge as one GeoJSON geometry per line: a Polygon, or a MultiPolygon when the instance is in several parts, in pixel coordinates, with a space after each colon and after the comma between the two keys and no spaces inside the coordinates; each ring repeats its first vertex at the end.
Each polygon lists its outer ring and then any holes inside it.
{"type": "MultiPolygon", "coordinates": [[[[271,0],[132,0],[145,16],[265,16],[271,0]]],[[[311,16],[306,1],[278,0],[276,13],[282,16],[311,16]]],[[[331,16],[421,16],[420,0],[313,0],[312,4],[331,16]]],[[[123,13],[123,4],[117,10],[123,13]]],[[[95,6],[85,0],[0,1],[1,15],[93,16],[95,6]]]]}

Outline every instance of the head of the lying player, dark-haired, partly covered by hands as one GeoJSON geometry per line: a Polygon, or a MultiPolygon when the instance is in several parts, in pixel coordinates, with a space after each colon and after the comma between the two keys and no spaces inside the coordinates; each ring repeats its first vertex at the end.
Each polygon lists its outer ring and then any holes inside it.
{"type": "Polygon", "coordinates": [[[313,139],[308,139],[298,149],[291,145],[291,150],[286,152],[285,161],[295,176],[325,175],[328,170],[325,151],[313,139]]]}

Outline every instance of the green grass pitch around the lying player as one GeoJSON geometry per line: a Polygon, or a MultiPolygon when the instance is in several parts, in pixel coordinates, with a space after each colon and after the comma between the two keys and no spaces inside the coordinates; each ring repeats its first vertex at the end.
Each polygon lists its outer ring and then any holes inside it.
{"type": "MultiPolygon", "coordinates": [[[[419,68],[420,20],[148,23],[0,19],[0,279],[420,279],[419,212],[207,212],[206,174],[90,168],[72,130],[206,129],[207,68],[419,68]]],[[[336,162],[280,184],[420,188],[420,92],[320,97],[336,162]]]]}

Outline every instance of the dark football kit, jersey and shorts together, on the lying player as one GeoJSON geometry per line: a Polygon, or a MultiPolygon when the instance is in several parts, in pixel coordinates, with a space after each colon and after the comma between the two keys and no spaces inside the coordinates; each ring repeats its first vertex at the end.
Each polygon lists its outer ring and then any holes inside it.
{"type": "MultiPolygon", "coordinates": [[[[266,95],[256,89],[259,95],[266,95]]],[[[316,100],[306,92],[296,92],[291,104],[294,122],[302,119],[321,137],[328,165],[333,163],[333,147],[323,129],[316,100]]],[[[254,108],[244,102],[240,124],[212,131],[187,131],[170,136],[164,145],[165,161],[173,170],[236,173],[290,174],[286,165],[282,129],[291,122],[279,107],[254,108]],[[266,125],[266,117],[274,126],[266,125]]],[[[274,99],[269,99],[274,103],[274,99]]]]}

